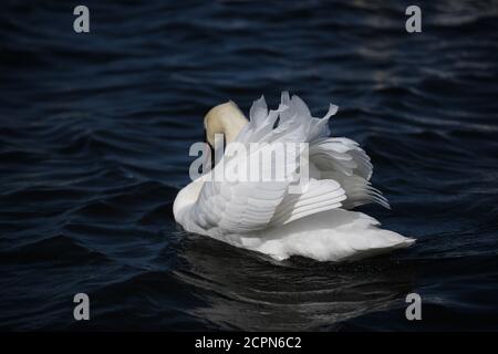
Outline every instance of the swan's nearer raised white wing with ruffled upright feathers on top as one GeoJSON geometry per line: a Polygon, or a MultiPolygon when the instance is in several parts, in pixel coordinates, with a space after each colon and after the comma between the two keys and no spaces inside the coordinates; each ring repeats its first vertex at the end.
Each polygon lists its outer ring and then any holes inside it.
{"type": "MultiPolygon", "coordinates": [[[[211,175],[216,175],[220,169],[229,173],[243,168],[246,158],[258,153],[258,149],[249,148],[251,143],[258,143],[260,147],[273,147],[279,143],[308,143],[328,135],[326,122],[335,112],[336,106],[331,105],[324,118],[313,118],[301,98],[290,98],[287,93],[282,94],[279,110],[269,112],[264,98],[261,97],[253,103],[250,122],[236,139],[248,147],[247,154],[237,154],[231,158],[226,154],[224,164],[218,164],[211,175]]],[[[345,194],[341,186],[331,179],[310,180],[304,184],[301,192],[289,194],[290,185],[297,181],[295,170],[299,168],[300,153],[294,150],[292,155],[292,150],[286,149],[287,164],[283,171],[280,170],[281,166],[262,164],[262,173],[267,173],[267,169],[270,169],[272,176],[280,173],[280,178],[276,181],[206,181],[191,209],[190,220],[206,231],[211,230],[211,233],[246,233],[340,207],[345,194]]]]}

